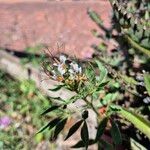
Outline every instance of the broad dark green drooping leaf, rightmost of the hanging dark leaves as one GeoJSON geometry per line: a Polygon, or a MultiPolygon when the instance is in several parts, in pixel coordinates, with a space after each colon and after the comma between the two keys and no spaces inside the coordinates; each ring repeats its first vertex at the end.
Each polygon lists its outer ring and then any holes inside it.
{"type": "Polygon", "coordinates": [[[111,136],[112,136],[112,139],[113,139],[113,142],[116,144],[116,145],[119,145],[122,143],[122,137],[121,137],[121,133],[120,133],[120,130],[117,126],[117,124],[112,121],[112,127],[110,129],[110,132],[111,132],[111,136]]]}

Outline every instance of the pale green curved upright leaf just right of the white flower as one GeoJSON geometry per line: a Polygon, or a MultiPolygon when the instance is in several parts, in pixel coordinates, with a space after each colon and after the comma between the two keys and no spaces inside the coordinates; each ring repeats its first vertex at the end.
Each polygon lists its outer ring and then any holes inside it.
{"type": "Polygon", "coordinates": [[[98,60],[96,60],[96,63],[98,65],[98,68],[100,70],[100,77],[99,77],[99,83],[102,83],[104,81],[104,79],[107,76],[107,69],[101,64],[101,62],[99,62],[98,60]]]}

